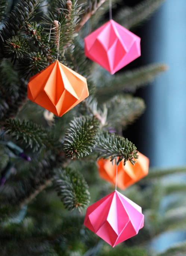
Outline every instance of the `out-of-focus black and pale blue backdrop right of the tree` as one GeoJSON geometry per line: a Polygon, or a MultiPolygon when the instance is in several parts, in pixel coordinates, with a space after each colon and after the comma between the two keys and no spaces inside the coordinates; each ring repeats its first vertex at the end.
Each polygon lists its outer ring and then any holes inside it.
{"type": "Polygon", "coordinates": [[[133,141],[150,158],[152,167],[185,165],[186,2],[165,1],[136,32],[142,47],[136,63],[165,63],[168,70],[137,91],[145,99],[146,111],[128,128],[128,137],[130,129],[135,131],[133,141]]]}

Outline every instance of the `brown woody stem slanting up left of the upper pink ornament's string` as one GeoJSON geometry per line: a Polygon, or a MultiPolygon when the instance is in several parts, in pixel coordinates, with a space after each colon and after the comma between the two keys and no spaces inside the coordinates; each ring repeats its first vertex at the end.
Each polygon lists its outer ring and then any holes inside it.
{"type": "Polygon", "coordinates": [[[105,0],[89,0],[89,4],[85,8],[85,13],[82,15],[81,20],[75,26],[75,32],[78,32],[81,27],[90,19],[90,17],[97,11],[97,9],[105,2],[105,0]]]}

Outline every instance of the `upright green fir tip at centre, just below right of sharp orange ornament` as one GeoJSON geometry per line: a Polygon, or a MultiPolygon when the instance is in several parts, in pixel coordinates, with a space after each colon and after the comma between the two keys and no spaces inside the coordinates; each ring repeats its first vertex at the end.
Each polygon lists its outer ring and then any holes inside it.
{"type": "Polygon", "coordinates": [[[96,145],[99,122],[93,117],[76,117],[66,131],[63,150],[66,157],[77,158],[89,155],[96,145]]]}

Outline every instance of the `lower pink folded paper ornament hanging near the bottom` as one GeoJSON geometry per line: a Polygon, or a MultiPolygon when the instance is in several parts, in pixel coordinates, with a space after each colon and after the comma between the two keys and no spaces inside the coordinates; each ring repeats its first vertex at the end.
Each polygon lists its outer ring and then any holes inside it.
{"type": "Polygon", "coordinates": [[[112,247],[143,227],[142,208],[117,190],[87,208],[84,225],[112,247]]]}

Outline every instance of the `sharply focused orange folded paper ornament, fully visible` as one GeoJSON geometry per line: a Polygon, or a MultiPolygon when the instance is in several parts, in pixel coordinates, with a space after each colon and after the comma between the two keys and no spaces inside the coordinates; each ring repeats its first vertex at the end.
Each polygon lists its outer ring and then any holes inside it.
{"type": "Polygon", "coordinates": [[[62,116],[89,96],[86,78],[56,60],[30,78],[28,98],[62,116]]]}

